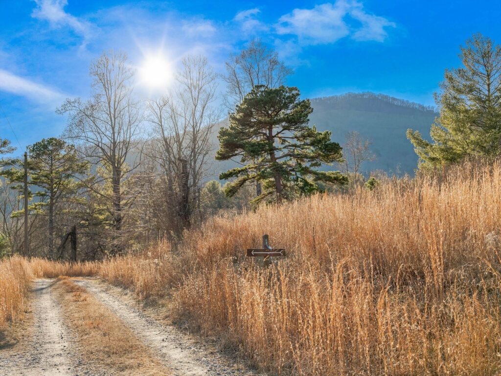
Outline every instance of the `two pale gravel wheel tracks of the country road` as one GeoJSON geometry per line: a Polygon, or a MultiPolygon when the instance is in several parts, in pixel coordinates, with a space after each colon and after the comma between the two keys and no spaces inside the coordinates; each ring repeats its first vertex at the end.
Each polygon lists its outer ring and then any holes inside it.
{"type": "MultiPolygon", "coordinates": [[[[188,338],[176,328],[154,320],[130,301],[106,291],[95,280],[76,279],[114,315],[129,327],[154,356],[175,376],[247,376],[257,373],[214,349],[188,338]]],[[[34,282],[34,334],[28,343],[0,349],[0,376],[14,375],[113,375],[113,369],[84,364],[79,357],[78,336],[66,327],[58,301],[53,296],[55,281],[34,282]]],[[[120,373],[117,371],[117,373],[120,373]]],[[[120,373],[122,374],[122,373],[120,373]]]]}

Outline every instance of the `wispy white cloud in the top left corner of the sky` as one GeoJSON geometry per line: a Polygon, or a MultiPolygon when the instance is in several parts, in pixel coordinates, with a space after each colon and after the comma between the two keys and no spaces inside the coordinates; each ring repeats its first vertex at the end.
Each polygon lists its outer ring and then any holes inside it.
{"type": "Polygon", "coordinates": [[[34,0],[37,8],[33,10],[32,17],[48,21],[53,28],[69,27],[76,34],[83,37],[84,46],[90,38],[92,25],[69,13],[64,7],[68,5],[68,0],[34,0]]]}

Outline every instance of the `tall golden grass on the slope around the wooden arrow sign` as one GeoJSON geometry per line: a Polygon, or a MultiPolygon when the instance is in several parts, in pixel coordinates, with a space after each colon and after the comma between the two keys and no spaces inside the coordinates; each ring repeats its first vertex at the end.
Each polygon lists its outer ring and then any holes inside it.
{"type": "Polygon", "coordinates": [[[173,292],[178,319],[279,374],[499,374],[500,193],[498,162],[466,163],[214,218],[101,274],[173,292]],[[289,255],[266,270],[243,256],[265,233],[289,255]]]}

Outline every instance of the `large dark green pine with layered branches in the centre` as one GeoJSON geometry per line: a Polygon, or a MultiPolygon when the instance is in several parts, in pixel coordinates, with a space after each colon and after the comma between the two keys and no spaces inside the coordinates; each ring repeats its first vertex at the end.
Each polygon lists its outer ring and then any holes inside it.
{"type": "Polygon", "coordinates": [[[342,148],[331,132],[308,125],[310,101],[300,100],[295,87],[256,86],[229,116],[229,127],[219,131],[217,160],[240,157],[243,167],[221,173],[232,179],[225,194],[233,196],[246,182],[261,182],[254,203],[293,199],[323,191],[322,183],[344,183],[338,171],[319,171],[322,163],[342,161],[342,148]]]}

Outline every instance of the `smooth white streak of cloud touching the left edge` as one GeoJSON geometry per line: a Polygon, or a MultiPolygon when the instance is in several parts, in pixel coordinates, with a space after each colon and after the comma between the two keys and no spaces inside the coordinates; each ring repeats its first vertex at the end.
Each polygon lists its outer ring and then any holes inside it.
{"type": "Polygon", "coordinates": [[[64,95],[57,90],[0,69],[0,90],[28,97],[40,103],[61,102],[64,95]]]}

